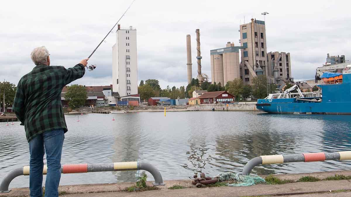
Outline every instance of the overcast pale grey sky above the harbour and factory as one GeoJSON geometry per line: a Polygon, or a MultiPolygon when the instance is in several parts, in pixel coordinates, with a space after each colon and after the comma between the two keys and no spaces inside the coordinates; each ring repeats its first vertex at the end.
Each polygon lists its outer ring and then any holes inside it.
{"type": "MultiPolygon", "coordinates": [[[[0,80],[17,84],[34,64],[33,48],[46,46],[51,65],[74,66],[90,55],[132,0],[4,1],[0,7],[0,80]]],[[[349,1],[136,0],[121,19],[137,28],[138,83],[157,79],[161,88],[187,83],[186,34],[192,39],[192,71],[197,75],[196,34],[200,29],[202,72],[211,76],[210,50],[239,45],[240,22],[266,16],[267,52],[290,52],[292,77],[314,79],[326,54],[351,60],[349,1]]],[[[117,27],[113,32],[117,30],[117,27]]],[[[93,72],[74,83],[112,83],[111,33],[88,63],[93,72]]]]}

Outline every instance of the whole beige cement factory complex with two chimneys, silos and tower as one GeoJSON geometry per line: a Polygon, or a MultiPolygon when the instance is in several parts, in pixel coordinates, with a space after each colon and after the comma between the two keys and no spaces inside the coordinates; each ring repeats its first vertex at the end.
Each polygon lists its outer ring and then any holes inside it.
{"type": "MultiPolygon", "coordinates": [[[[239,28],[240,46],[227,42],[224,48],[210,51],[211,82],[225,86],[228,81],[241,79],[244,84],[251,85],[252,79],[257,75],[266,75],[269,83],[275,83],[278,86],[285,82],[292,82],[290,53],[267,53],[265,21],[251,19],[251,22],[241,24],[239,28]],[[239,61],[239,56],[241,56],[241,61],[239,61]]],[[[196,79],[201,84],[208,81],[209,78],[208,75],[201,72],[200,29],[196,29],[196,42],[198,66],[196,79]]],[[[192,80],[190,34],[186,35],[186,51],[189,84],[192,80]]]]}

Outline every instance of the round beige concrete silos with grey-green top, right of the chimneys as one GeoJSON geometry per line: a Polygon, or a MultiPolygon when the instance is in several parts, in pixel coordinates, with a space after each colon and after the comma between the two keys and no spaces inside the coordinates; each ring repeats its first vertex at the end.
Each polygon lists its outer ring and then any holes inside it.
{"type": "Polygon", "coordinates": [[[210,51],[212,83],[225,86],[228,81],[240,79],[239,49],[246,49],[246,46],[235,47],[234,43],[227,42],[225,48],[210,51]]]}

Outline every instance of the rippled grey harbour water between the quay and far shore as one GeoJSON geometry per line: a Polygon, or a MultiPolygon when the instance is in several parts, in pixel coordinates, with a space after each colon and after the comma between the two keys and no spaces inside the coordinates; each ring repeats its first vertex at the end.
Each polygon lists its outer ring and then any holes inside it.
{"type": "MultiPolygon", "coordinates": [[[[62,163],[143,161],[164,179],[194,172],[241,172],[260,155],[346,151],[351,147],[351,116],[278,115],[254,112],[194,111],[66,115],[68,133],[62,163]],[[115,121],[112,121],[114,117],[115,121]]],[[[0,179],[28,165],[28,143],[18,122],[0,123],[0,179]]],[[[44,161],[46,163],[46,161],[44,161]]],[[[347,161],[262,165],[255,174],[351,169],[347,161]]],[[[149,175],[149,180],[152,176],[149,175]]],[[[65,174],[61,185],[134,181],[135,171],[65,174]]],[[[28,186],[28,177],[10,187],[28,186]]]]}

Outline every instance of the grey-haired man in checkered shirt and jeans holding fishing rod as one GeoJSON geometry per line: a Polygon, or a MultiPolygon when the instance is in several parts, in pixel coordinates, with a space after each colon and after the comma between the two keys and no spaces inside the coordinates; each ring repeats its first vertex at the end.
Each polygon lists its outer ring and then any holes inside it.
{"type": "Polygon", "coordinates": [[[31,58],[36,66],[18,82],[13,110],[24,125],[29,143],[31,197],[42,197],[44,151],[47,161],[45,196],[58,196],[62,145],[67,132],[61,91],[84,75],[88,59],[68,69],[50,66],[50,54],[45,47],[33,49],[31,58]]]}

